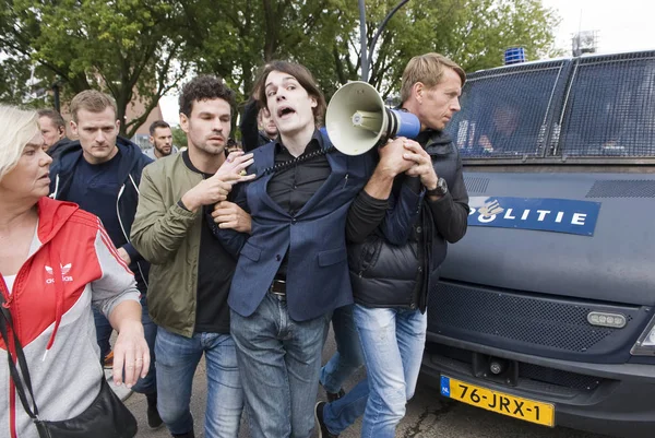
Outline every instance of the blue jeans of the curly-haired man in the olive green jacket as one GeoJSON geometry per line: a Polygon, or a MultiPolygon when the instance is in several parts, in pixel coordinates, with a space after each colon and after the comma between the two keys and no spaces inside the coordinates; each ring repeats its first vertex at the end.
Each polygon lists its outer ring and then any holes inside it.
{"type": "Polygon", "coordinates": [[[171,434],[193,430],[189,410],[193,375],[202,354],[207,368],[205,438],[239,435],[243,391],[235,343],[229,334],[193,333],[184,338],[162,327],[155,344],[157,354],[157,411],[171,434]]]}

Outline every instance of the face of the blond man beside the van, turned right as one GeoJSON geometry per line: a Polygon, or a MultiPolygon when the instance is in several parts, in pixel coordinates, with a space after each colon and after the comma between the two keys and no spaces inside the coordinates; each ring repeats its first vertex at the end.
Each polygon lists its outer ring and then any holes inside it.
{"type": "Polygon", "coordinates": [[[443,78],[432,88],[419,92],[418,119],[422,129],[443,130],[453,115],[460,110],[462,80],[452,69],[445,69],[443,78]]]}

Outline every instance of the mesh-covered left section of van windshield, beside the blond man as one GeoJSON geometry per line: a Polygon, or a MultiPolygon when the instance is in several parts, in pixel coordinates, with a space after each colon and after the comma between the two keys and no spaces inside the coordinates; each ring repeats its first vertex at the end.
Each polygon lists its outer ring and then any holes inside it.
{"type": "Polygon", "coordinates": [[[546,116],[561,63],[508,67],[468,76],[446,131],[464,158],[543,153],[546,116]]]}

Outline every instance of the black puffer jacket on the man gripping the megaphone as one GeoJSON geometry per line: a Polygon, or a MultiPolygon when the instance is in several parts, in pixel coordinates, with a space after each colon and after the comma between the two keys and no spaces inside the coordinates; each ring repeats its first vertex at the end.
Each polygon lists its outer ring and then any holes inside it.
{"type": "MultiPolygon", "coordinates": [[[[353,294],[367,307],[427,307],[428,292],[439,279],[448,242],[466,234],[468,194],[462,159],[451,139],[437,131],[416,139],[432,157],[434,170],[449,192],[438,201],[425,196],[420,179],[401,175],[394,180],[384,220],[369,233],[348,221],[348,262],[353,294]]],[[[357,214],[355,200],[350,214],[357,214]]]]}

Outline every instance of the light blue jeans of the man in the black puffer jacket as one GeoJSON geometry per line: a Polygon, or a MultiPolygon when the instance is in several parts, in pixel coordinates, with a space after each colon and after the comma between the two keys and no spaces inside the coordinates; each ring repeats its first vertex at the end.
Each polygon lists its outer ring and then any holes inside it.
{"type": "Polygon", "coordinates": [[[353,317],[361,340],[367,378],[343,399],[325,405],[325,426],[331,433],[341,434],[364,414],[362,438],[393,438],[416,389],[427,313],[355,305],[353,317]]]}

